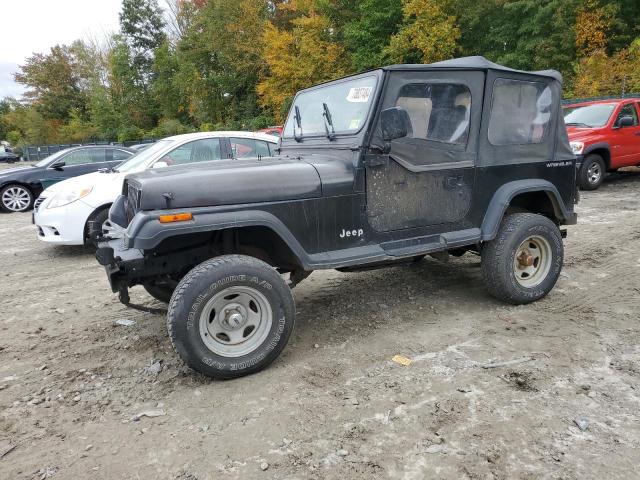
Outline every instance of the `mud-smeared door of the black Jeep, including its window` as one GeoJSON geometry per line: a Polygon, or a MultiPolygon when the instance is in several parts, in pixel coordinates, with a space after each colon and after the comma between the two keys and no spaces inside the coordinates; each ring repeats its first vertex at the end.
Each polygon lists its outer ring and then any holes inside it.
{"type": "MultiPolygon", "coordinates": [[[[367,216],[378,232],[461,223],[474,182],[484,72],[392,71],[380,110],[406,111],[408,134],[365,159],[367,216]]],[[[406,118],[406,117],[405,117],[406,118]]],[[[371,145],[383,145],[380,115],[371,145]]],[[[375,152],[370,149],[370,152],[375,152]]]]}

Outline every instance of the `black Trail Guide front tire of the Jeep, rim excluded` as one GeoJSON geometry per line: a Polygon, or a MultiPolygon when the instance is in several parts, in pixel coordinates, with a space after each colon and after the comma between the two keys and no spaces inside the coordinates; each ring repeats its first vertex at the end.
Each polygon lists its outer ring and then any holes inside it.
{"type": "MultiPolygon", "coordinates": [[[[231,284],[225,285],[225,287],[227,286],[231,286],[231,284]]],[[[251,286],[256,288],[256,285],[251,286]]],[[[265,294],[264,290],[261,290],[261,292],[265,294]]],[[[206,301],[203,301],[202,304],[206,304],[206,301]]],[[[195,313],[199,312],[196,311],[195,313]]],[[[293,332],[294,323],[295,304],[293,295],[284,279],[269,264],[246,255],[223,255],[207,260],[194,267],[180,280],[180,283],[178,283],[171,297],[169,310],[167,312],[169,338],[178,355],[194,370],[209,377],[219,379],[237,378],[266,368],[280,355],[286,346],[293,332]],[[199,328],[197,325],[199,315],[194,315],[194,324],[191,326],[192,332],[191,337],[189,337],[187,319],[193,304],[191,299],[197,299],[198,295],[205,294],[205,291],[213,295],[215,291],[211,291],[210,287],[207,289],[205,287],[206,285],[211,286],[217,280],[224,279],[229,275],[240,275],[243,274],[243,272],[250,275],[259,275],[258,278],[268,280],[275,297],[280,300],[280,305],[274,305],[273,302],[271,302],[271,296],[267,296],[267,299],[271,303],[274,317],[270,335],[260,347],[244,357],[221,357],[215,355],[202,343],[200,333],[197,331],[199,328]],[[282,319],[282,321],[279,319],[282,319]],[[276,337],[273,335],[274,329],[279,323],[281,324],[282,330],[279,332],[277,343],[269,350],[269,346],[272,343],[271,340],[276,337]],[[195,331],[193,330],[194,328],[195,331]],[[194,342],[196,345],[195,348],[194,342]],[[218,365],[211,365],[211,361],[204,362],[199,354],[208,355],[207,359],[215,360],[218,365]],[[239,366],[238,362],[243,362],[245,357],[249,357],[247,359],[249,364],[239,366]],[[254,358],[252,359],[250,357],[254,358]],[[255,357],[261,358],[255,361],[255,357]]],[[[244,363],[246,364],[247,362],[244,361],[244,363]]]]}

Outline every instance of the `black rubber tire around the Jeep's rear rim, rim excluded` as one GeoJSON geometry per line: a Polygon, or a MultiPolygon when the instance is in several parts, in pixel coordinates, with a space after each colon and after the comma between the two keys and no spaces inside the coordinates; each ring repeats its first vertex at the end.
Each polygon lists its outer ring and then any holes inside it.
{"type": "Polygon", "coordinates": [[[482,277],[489,293],[504,302],[522,305],[546,296],[556,284],[564,258],[560,229],[547,217],[534,213],[514,213],[503,218],[496,238],[482,249],[482,277]],[[513,273],[516,249],[531,235],[547,239],[552,250],[552,263],[547,278],[539,285],[526,288],[513,273]]]}

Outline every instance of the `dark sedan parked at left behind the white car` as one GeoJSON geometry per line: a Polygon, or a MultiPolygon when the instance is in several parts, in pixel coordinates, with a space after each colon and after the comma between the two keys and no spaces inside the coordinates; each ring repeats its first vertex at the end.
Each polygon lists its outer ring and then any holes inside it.
{"type": "Polygon", "coordinates": [[[111,145],[72,147],[35,165],[0,170],[0,209],[5,212],[24,212],[47,188],[61,180],[101,168],[113,168],[130,158],[134,150],[111,145]]]}

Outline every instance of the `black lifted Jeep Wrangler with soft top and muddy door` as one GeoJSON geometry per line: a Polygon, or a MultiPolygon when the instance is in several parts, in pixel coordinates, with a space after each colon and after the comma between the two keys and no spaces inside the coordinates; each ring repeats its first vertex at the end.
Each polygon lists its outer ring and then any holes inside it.
{"type": "Polygon", "coordinates": [[[491,295],[533,302],[576,223],[561,80],[470,57],[303,90],[276,157],[128,177],[97,258],[124,303],[133,285],[168,302],[179,355],[220,378],[278,356],[316,269],[469,251],[491,295]]]}

